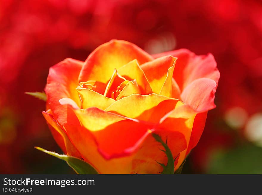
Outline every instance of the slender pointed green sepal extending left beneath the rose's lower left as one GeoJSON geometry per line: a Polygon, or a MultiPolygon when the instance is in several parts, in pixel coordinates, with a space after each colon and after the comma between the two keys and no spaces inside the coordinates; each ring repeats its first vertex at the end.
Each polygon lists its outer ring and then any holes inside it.
{"type": "Polygon", "coordinates": [[[68,163],[68,165],[77,173],[77,174],[99,174],[93,166],[86,163],[85,161],[82,161],[79,158],[75,158],[73,156],[67,156],[62,154],[57,154],[55,152],[47,151],[40,147],[35,147],[37,150],[40,150],[42,152],[45,152],[49,155],[52,155],[54,157],[60,158],[68,163]]]}

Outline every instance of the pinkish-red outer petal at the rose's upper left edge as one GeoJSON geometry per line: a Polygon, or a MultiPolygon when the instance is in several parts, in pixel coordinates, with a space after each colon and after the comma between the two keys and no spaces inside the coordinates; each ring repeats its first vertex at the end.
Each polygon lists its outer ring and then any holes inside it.
{"type": "Polygon", "coordinates": [[[67,122],[67,108],[61,105],[58,100],[61,98],[72,98],[78,106],[81,105],[76,88],[78,86],[77,78],[82,65],[83,62],[68,58],[49,69],[45,88],[47,103],[52,110],[54,118],[62,126],[67,122]]]}

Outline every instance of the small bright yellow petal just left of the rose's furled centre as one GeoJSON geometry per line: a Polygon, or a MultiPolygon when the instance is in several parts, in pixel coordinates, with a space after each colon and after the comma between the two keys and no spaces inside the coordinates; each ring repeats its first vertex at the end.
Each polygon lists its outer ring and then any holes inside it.
{"type": "Polygon", "coordinates": [[[115,102],[112,98],[107,98],[91,89],[77,88],[82,101],[82,108],[97,107],[105,110],[108,106],[115,102]]]}

